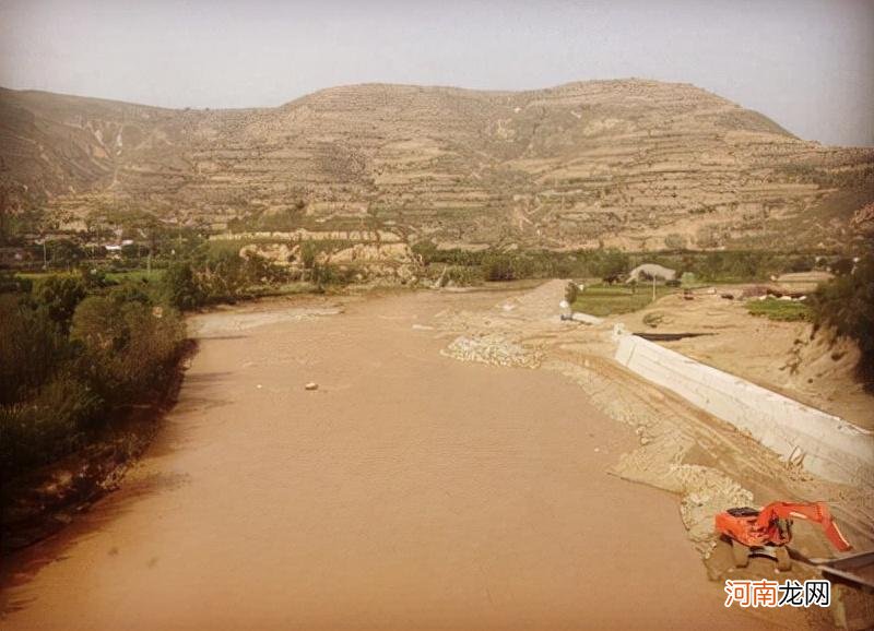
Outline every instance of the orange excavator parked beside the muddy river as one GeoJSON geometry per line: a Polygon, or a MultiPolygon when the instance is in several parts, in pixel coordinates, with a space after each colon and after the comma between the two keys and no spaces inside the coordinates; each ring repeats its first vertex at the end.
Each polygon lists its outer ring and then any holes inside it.
{"type": "Polygon", "coordinates": [[[729,509],[716,516],[717,532],[731,540],[734,564],[745,568],[749,555],[765,552],[777,560],[780,571],[792,568],[787,545],[792,540],[792,520],[807,520],[823,531],[838,550],[851,548],[838,529],[825,502],[771,502],[761,510],[749,507],[729,509]]]}

